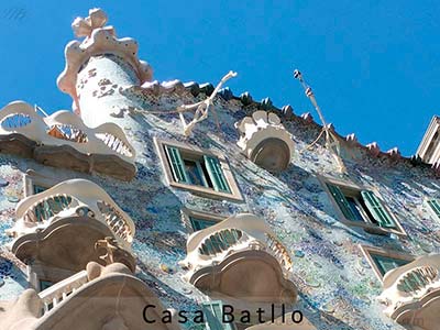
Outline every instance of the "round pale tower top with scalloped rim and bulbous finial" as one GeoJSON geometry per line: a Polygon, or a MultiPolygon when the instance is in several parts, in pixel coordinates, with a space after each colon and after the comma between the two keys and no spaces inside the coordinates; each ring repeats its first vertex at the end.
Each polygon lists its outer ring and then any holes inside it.
{"type": "Polygon", "coordinates": [[[136,106],[124,90],[153,77],[150,65],[138,57],[136,41],[118,38],[113,26],[106,26],[107,20],[101,9],[75,19],[72,28],[82,40],[67,44],[66,67],[57,79],[58,88],[72,96],[74,111],[89,127],[118,122],[112,113],[136,106]]]}

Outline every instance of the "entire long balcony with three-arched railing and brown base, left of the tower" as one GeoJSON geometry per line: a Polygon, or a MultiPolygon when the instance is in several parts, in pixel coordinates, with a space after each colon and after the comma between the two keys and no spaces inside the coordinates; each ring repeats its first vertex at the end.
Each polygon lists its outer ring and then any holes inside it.
{"type": "Polygon", "coordinates": [[[124,180],[136,172],[134,148],[121,128],[105,123],[90,129],[70,111],[41,117],[25,102],[9,103],[0,110],[0,152],[50,166],[124,180]]]}

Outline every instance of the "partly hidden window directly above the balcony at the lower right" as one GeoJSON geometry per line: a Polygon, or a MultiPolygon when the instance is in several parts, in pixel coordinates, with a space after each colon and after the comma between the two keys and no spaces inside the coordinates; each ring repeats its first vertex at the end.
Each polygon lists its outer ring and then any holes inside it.
{"type": "Polygon", "coordinates": [[[389,271],[409,264],[415,260],[410,254],[372,246],[361,245],[361,250],[381,280],[389,271]]]}

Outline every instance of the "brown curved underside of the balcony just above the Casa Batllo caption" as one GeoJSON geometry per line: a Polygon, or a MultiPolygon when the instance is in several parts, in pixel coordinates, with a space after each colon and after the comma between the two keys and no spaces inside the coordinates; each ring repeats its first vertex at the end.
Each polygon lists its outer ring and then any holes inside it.
{"type": "Polygon", "coordinates": [[[202,292],[217,292],[249,302],[294,304],[298,296],[295,285],[284,276],[279,262],[258,250],[232,253],[219,264],[196,271],[189,282],[202,292]],[[239,290],[242,293],[237,295],[239,290]]]}

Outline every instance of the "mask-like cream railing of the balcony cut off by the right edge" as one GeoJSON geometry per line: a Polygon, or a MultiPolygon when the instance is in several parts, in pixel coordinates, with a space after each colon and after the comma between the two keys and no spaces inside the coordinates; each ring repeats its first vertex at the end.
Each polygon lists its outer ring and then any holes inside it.
{"type": "MultiPolygon", "coordinates": [[[[440,295],[440,254],[425,255],[385,274],[384,290],[378,300],[386,306],[385,314],[393,316],[397,308],[415,306],[427,294],[440,295]]],[[[414,308],[414,307],[411,307],[414,308]]]]}

